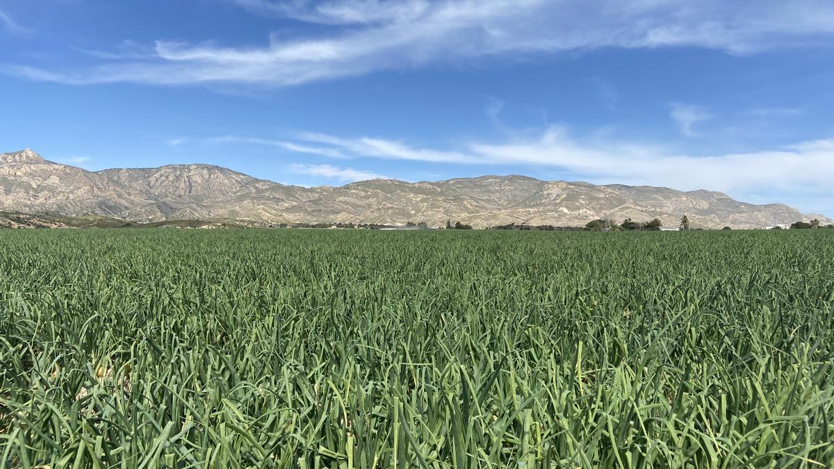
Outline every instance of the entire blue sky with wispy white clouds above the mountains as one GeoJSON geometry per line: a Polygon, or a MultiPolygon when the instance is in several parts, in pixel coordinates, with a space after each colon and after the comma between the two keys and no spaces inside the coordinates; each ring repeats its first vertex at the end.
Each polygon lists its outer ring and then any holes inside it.
{"type": "Polygon", "coordinates": [[[0,151],[93,170],[526,174],[831,210],[834,3],[0,0],[0,108],[0,151]]]}

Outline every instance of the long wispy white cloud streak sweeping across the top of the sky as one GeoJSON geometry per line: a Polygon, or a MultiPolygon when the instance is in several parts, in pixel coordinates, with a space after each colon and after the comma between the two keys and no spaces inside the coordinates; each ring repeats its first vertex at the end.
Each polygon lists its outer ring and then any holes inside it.
{"type": "Polygon", "coordinates": [[[287,86],[428,63],[588,48],[699,47],[754,53],[827,45],[827,0],[233,0],[279,19],[330,25],[316,37],[261,46],[160,40],[149,58],[120,50],[93,68],[8,73],[63,83],[238,83],[287,86]]]}

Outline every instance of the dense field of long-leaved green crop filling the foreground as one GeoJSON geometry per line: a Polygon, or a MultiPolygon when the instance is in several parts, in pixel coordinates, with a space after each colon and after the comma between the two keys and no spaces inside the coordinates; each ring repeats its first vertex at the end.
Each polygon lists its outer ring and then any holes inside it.
{"type": "Polygon", "coordinates": [[[0,466],[834,466],[834,230],[7,230],[0,295],[0,466]]]}

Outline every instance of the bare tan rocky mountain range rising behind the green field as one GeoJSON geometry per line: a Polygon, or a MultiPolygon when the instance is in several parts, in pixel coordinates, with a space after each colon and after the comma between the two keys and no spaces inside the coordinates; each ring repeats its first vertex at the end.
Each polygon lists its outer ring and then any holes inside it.
{"type": "MultiPolygon", "coordinates": [[[[446,220],[498,224],[583,225],[591,219],[688,214],[703,228],[761,228],[807,219],[784,204],[755,205],[720,192],[483,176],[408,183],[373,179],[304,188],[255,179],[208,164],[93,172],[43,159],[31,149],[0,154],[0,210],[136,222],[239,219],[261,223],[378,223],[446,220]]],[[[820,218],[824,223],[831,220],[820,218]]]]}

